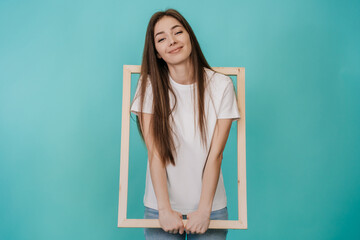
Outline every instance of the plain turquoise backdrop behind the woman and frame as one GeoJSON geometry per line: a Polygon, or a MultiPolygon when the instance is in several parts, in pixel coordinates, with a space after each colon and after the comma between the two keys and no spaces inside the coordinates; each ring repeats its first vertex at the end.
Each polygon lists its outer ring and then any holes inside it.
{"type": "MultiPolygon", "coordinates": [[[[360,239],[360,2],[309,0],[0,1],[0,239],[143,238],[117,228],[122,66],[166,8],[211,66],[246,68],[248,230],[228,239],[360,239]]],[[[133,121],[130,144],[128,216],[142,218],[133,121]]]]}

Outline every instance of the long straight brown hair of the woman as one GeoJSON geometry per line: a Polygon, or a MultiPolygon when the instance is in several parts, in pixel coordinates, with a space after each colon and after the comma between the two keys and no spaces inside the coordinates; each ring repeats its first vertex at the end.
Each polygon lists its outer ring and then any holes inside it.
{"type": "MultiPolygon", "coordinates": [[[[198,126],[200,129],[201,140],[206,144],[206,118],[205,118],[205,107],[204,107],[204,95],[205,95],[205,69],[209,68],[200,45],[195,37],[193,30],[186,19],[176,10],[167,9],[166,11],[159,11],[152,15],[146,30],[145,46],[143,52],[143,58],[141,63],[140,73],[140,106],[141,111],[138,116],[142,117],[142,109],[144,104],[144,97],[147,88],[147,80],[150,80],[153,94],[153,117],[151,120],[150,131],[152,132],[154,139],[154,146],[161,158],[161,161],[166,166],[168,163],[175,165],[174,155],[176,154],[173,129],[171,128],[170,119],[171,113],[176,106],[176,96],[171,88],[169,81],[169,69],[166,62],[161,58],[156,57],[155,40],[154,40],[154,28],[155,24],[164,16],[170,16],[178,20],[190,36],[190,42],[192,51],[190,59],[192,63],[192,72],[197,86],[197,106],[198,106],[198,126]],[[175,97],[175,106],[170,107],[170,96],[169,92],[175,97]]],[[[144,140],[142,133],[142,127],[139,121],[139,117],[136,117],[137,125],[141,137],[144,140]]],[[[143,123],[143,121],[141,121],[143,123]]]]}

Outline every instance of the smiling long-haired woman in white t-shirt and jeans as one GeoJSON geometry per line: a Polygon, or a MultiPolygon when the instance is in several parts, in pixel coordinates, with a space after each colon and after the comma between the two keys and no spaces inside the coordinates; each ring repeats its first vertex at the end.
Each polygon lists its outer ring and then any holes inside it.
{"type": "Polygon", "coordinates": [[[161,225],[145,229],[146,239],[225,239],[227,230],[208,227],[228,217],[221,161],[240,117],[234,86],[174,9],[150,19],[131,111],[148,150],[145,218],[161,225]]]}

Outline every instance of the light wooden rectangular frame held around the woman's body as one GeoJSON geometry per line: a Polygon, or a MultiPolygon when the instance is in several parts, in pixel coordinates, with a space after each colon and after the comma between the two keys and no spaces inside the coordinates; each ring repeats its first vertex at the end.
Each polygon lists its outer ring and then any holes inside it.
{"type": "MultiPolygon", "coordinates": [[[[237,121],[237,161],[238,161],[238,220],[211,220],[209,228],[247,229],[246,204],[246,139],[245,139],[245,68],[214,67],[215,71],[237,77],[237,101],[240,120],[237,121]]],[[[124,228],[160,228],[158,219],[127,219],[127,193],[129,171],[129,131],[130,131],[130,95],[131,74],[140,73],[139,65],[124,65],[123,100],[121,123],[120,185],[118,227],[124,228]]],[[[183,220],[184,225],[187,220],[183,220]]]]}

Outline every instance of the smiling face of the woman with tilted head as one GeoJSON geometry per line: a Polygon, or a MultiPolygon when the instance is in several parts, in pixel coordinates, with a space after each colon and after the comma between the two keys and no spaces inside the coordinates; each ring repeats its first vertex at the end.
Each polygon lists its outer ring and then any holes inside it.
{"type": "Polygon", "coordinates": [[[188,61],[191,53],[189,33],[173,17],[162,17],[154,27],[157,57],[168,65],[177,65],[188,61]]]}

